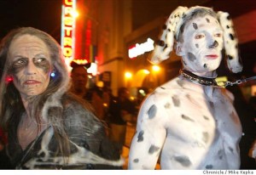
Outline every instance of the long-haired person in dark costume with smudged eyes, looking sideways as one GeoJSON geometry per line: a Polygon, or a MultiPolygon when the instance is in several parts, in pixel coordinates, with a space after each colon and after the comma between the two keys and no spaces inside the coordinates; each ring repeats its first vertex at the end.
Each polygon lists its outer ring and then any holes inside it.
{"type": "Polygon", "coordinates": [[[61,46],[20,27],[0,43],[0,127],[15,169],[115,169],[123,159],[101,121],[69,89],[61,46]]]}

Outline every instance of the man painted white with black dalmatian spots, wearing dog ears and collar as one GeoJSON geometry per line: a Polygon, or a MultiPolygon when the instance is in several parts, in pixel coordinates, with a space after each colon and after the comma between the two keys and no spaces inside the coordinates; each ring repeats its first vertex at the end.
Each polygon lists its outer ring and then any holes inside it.
{"type": "Polygon", "coordinates": [[[168,59],[176,41],[180,75],[144,100],[132,139],[129,169],[239,169],[241,123],[234,96],[215,82],[227,54],[230,71],[242,70],[229,14],[178,7],[166,21],[151,62],[168,59]]]}

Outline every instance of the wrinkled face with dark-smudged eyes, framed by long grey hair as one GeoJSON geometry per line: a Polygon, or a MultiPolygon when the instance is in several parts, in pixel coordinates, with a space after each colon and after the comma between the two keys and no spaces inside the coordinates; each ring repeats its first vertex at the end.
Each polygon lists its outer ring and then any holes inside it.
{"type": "Polygon", "coordinates": [[[43,93],[51,71],[49,49],[38,37],[23,35],[9,47],[11,74],[21,98],[43,93]]]}

